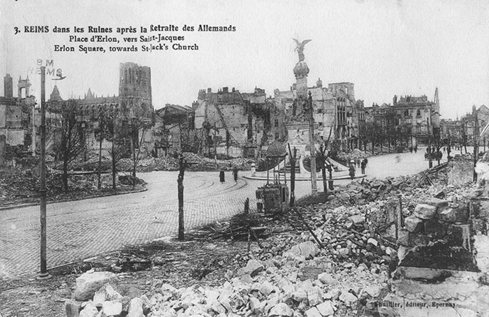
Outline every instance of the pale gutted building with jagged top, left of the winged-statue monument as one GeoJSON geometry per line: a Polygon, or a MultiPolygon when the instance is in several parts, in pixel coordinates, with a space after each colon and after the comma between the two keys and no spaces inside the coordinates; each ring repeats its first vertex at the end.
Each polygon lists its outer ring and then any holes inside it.
{"type": "Polygon", "coordinates": [[[228,87],[200,90],[193,108],[200,153],[254,157],[273,140],[270,113],[275,109],[263,89],[252,93],[228,87]]]}

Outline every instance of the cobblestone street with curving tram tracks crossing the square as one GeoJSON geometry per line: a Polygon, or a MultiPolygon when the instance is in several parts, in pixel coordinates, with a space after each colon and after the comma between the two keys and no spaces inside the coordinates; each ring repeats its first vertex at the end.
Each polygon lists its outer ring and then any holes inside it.
{"type": "MultiPolygon", "coordinates": [[[[400,154],[400,161],[396,156],[370,158],[367,175],[407,175],[428,168],[421,150],[400,154]]],[[[177,172],[139,176],[148,183],[145,192],[48,204],[48,268],[177,234],[177,172]]],[[[186,230],[242,212],[246,198],[254,209],[255,190],[264,183],[240,177],[235,184],[231,172],[226,172],[226,182],[221,184],[217,172],[186,172],[186,230]]],[[[322,191],[321,182],[318,189],[322,191]]],[[[310,191],[310,182],[296,182],[296,198],[310,191]]],[[[0,210],[0,279],[38,272],[39,232],[38,206],[0,210]]]]}

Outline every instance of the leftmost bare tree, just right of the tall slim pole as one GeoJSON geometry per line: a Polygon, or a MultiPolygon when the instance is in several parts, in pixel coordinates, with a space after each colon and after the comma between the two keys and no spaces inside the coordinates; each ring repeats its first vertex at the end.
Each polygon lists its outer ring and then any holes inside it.
{"type": "Polygon", "coordinates": [[[55,152],[63,161],[63,188],[68,193],[68,165],[77,158],[85,149],[85,135],[77,115],[78,103],[70,99],[61,104],[59,110],[60,140],[55,145],[55,152]]]}

